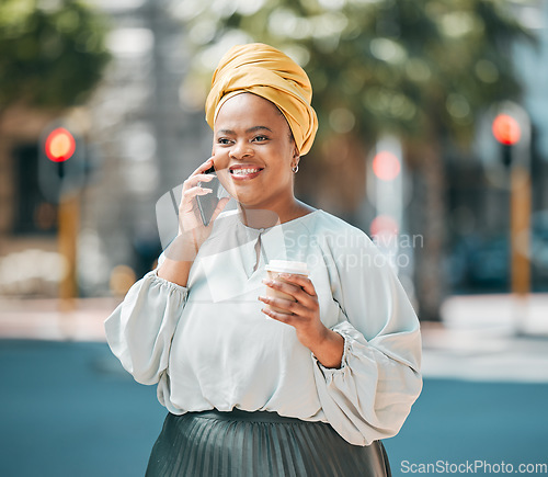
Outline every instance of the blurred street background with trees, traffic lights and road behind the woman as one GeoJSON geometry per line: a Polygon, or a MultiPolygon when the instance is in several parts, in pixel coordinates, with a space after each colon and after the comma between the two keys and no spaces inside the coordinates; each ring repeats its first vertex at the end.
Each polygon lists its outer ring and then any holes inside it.
{"type": "Polygon", "coordinates": [[[103,321],[176,230],[213,70],[249,42],[313,86],[297,195],[366,231],[421,319],[393,475],[548,474],[548,2],[2,0],[0,475],[144,475],[165,410],[103,321]]]}

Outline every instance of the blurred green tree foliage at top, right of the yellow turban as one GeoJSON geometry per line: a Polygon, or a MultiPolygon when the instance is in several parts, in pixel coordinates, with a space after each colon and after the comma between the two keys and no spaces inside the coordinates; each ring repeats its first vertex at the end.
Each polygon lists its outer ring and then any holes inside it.
{"type": "Polygon", "coordinates": [[[347,128],[338,124],[339,116],[344,122],[344,114],[338,116],[343,107],[362,137],[388,130],[426,138],[433,123],[466,141],[484,106],[518,93],[510,47],[527,33],[506,1],[251,3],[189,7],[190,39],[207,52],[244,32],[248,41],[295,53],[312,81],[323,129],[347,128]]]}

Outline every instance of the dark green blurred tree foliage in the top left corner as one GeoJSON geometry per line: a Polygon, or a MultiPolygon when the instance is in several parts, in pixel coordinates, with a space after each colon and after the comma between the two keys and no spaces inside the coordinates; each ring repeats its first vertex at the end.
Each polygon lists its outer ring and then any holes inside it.
{"type": "Polygon", "coordinates": [[[109,60],[103,18],[79,1],[0,2],[0,112],[83,102],[109,60]]]}

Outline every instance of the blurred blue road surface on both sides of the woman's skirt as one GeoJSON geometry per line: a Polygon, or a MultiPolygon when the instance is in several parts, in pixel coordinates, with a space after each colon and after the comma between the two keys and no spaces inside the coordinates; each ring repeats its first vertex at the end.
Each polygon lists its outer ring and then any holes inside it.
{"type": "MultiPolygon", "coordinates": [[[[0,476],[144,475],[165,410],[105,343],[0,340],[0,476]]],[[[393,475],[548,463],[547,404],[547,383],[426,378],[402,431],[385,441],[393,475]]]]}

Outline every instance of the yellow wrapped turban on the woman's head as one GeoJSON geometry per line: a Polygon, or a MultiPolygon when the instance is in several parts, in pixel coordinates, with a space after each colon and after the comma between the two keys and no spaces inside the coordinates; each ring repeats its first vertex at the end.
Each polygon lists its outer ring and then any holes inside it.
{"type": "Polygon", "coordinates": [[[213,75],[206,100],[206,121],[212,129],[225,101],[243,92],[274,103],[287,120],[299,154],[310,150],[318,130],[318,117],[310,105],[312,87],[292,58],[262,43],[230,48],[213,75]]]}

